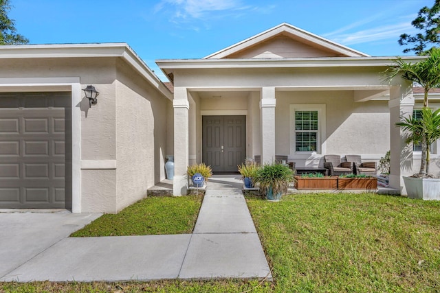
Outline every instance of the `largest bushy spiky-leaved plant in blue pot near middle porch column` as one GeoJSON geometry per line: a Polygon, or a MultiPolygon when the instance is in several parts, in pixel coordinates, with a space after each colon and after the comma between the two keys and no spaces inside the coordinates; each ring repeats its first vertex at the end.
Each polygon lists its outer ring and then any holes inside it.
{"type": "Polygon", "coordinates": [[[254,182],[265,192],[267,200],[278,201],[294,180],[294,172],[287,165],[272,163],[258,169],[254,182]]]}

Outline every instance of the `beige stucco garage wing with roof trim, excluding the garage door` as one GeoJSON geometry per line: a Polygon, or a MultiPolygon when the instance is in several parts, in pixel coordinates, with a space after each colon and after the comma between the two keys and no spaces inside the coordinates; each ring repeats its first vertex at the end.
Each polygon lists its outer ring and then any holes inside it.
{"type": "Polygon", "coordinates": [[[1,49],[0,91],[72,94],[74,212],[117,213],[164,180],[171,93],[128,46],[1,49]],[[87,84],[100,92],[91,108],[87,84]]]}

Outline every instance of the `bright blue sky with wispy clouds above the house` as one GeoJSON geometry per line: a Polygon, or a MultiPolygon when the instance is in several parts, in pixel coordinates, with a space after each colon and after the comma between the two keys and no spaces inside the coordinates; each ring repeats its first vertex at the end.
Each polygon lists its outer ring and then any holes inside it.
{"type": "MultiPolygon", "coordinates": [[[[372,56],[404,55],[400,34],[434,0],[10,0],[31,44],[128,43],[156,59],[202,58],[290,23],[372,56]]],[[[406,54],[408,55],[408,54],[406,54]]]]}

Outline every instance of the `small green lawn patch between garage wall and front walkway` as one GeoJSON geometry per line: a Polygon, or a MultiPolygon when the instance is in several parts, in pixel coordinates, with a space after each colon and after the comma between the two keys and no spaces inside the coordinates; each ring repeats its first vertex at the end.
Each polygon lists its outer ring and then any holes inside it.
{"type": "Polygon", "coordinates": [[[117,214],[105,214],[72,237],[192,233],[201,196],[148,197],[117,214]]]}

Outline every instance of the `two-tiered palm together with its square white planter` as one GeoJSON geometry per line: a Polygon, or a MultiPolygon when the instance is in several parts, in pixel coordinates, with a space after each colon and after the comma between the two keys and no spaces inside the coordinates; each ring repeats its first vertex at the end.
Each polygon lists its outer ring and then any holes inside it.
{"type": "Polygon", "coordinates": [[[433,47],[428,51],[428,58],[414,64],[395,60],[395,65],[384,73],[386,80],[391,82],[396,76],[409,80],[423,87],[423,109],[421,119],[401,117],[396,124],[408,132],[408,143],[421,143],[421,163],[419,173],[411,177],[404,176],[408,197],[440,200],[440,178],[429,174],[430,154],[428,146],[440,138],[439,112],[432,111],[429,106],[428,92],[440,86],[440,48],[433,47]],[[428,193],[429,192],[429,193],[428,193]]]}

